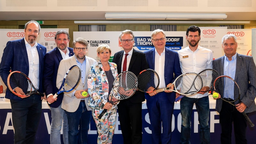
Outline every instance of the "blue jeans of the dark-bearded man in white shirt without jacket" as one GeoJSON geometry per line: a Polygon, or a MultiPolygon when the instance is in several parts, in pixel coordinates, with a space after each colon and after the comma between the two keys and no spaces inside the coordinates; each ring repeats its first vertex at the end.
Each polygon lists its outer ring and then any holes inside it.
{"type": "Polygon", "coordinates": [[[193,111],[193,105],[196,104],[196,109],[199,116],[200,124],[200,143],[210,143],[210,126],[209,126],[209,97],[203,98],[188,98],[183,97],[180,100],[180,113],[182,117],[181,121],[181,144],[190,144],[190,132],[191,132],[191,114],[193,111]]]}

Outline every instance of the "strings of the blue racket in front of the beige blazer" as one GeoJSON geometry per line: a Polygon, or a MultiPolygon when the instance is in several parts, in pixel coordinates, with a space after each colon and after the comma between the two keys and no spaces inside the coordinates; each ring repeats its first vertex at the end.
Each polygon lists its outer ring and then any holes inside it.
{"type": "Polygon", "coordinates": [[[80,68],[78,66],[69,70],[64,82],[64,91],[70,91],[80,79],[80,68]]]}

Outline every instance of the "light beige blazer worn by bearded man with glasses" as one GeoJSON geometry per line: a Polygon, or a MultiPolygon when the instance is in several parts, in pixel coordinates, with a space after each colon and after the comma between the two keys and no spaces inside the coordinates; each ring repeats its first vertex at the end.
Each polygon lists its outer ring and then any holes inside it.
{"type": "MultiPolygon", "coordinates": [[[[90,66],[96,63],[96,60],[94,60],[90,57],[86,56],[85,58],[86,58],[86,74],[84,76],[85,79],[84,79],[84,82],[82,82],[82,79],[80,79],[80,83],[76,86],[75,90],[87,89],[87,78],[88,78],[90,66]]],[[[57,80],[56,80],[56,86],[58,88],[61,86],[66,72],[73,65],[77,65],[75,55],[60,61],[58,74],[57,74],[57,80]]],[[[77,110],[80,100],[81,100],[81,99],[77,99],[75,96],[72,96],[73,92],[74,92],[74,90],[71,92],[65,92],[64,96],[63,96],[61,108],[65,109],[68,112],[75,112],[77,110]]],[[[85,99],[86,108],[87,108],[87,110],[92,110],[89,106],[87,106],[88,100],[89,100],[89,97],[85,99]]]]}

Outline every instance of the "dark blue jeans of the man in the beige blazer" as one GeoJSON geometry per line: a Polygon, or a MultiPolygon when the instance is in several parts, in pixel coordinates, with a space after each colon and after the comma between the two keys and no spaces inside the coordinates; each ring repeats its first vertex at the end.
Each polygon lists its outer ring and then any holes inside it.
{"type": "Polygon", "coordinates": [[[69,144],[87,144],[92,111],[88,111],[85,102],[81,101],[77,110],[67,112],[67,116],[69,144]]]}

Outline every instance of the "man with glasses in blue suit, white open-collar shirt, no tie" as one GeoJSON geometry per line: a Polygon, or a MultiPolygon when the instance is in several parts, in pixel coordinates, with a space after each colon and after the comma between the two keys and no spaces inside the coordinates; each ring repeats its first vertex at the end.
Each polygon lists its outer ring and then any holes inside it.
{"type": "MultiPolygon", "coordinates": [[[[152,44],[155,46],[146,52],[150,69],[159,75],[158,88],[165,88],[172,84],[181,75],[178,53],[165,47],[166,39],[163,30],[156,29],[151,34],[152,44]]],[[[170,89],[173,89],[172,85],[170,89]]],[[[170,144],[172,137],[172,114],[175,101],[175,92],[164,91],[145,93],[148,114],[151,124],[154,144],[170,144]],[[162,127],[163,126],[163,133],[162,127]],[[161,134],[162,133],[162,134],[161,134]]]]}

